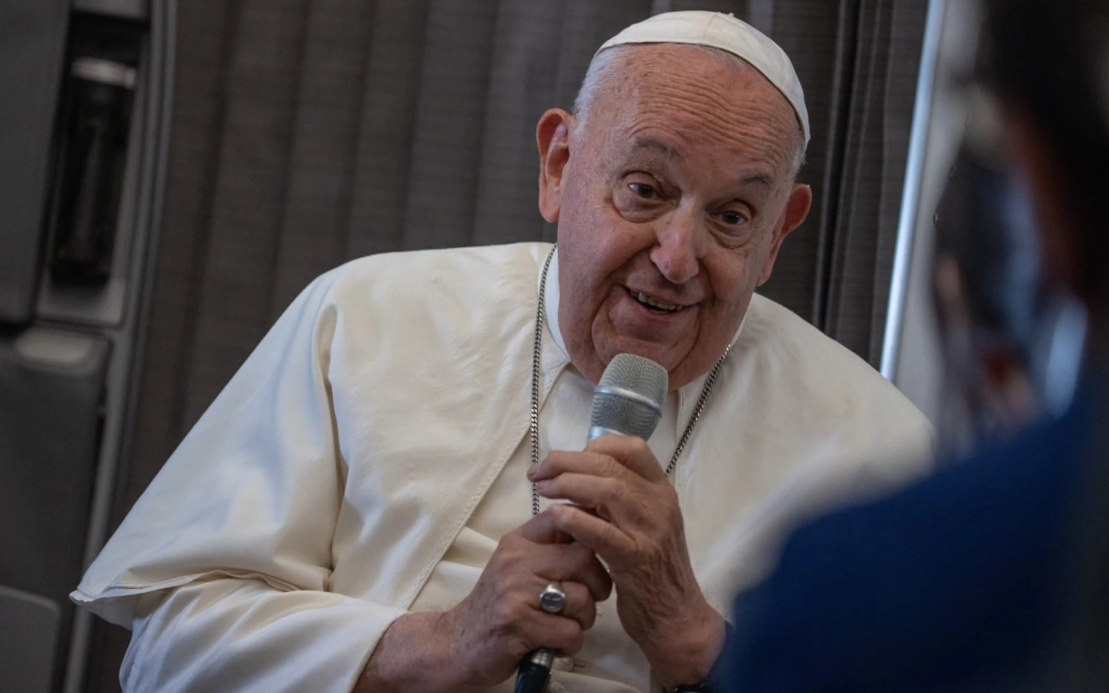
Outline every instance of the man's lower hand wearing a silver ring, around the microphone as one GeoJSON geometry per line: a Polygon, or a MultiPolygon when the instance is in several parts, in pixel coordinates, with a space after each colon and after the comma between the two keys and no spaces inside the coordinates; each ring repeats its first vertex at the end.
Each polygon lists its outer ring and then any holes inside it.
{"type": "Polygon", "coordinates": [[[478,691],[516,673],[532,650],[581,649],[612,580],[589,549],[542,512],[505,534],[474,590],[444,613],[397,619],[374,650],[356,691],[478,691]],[[562,583],[566,608],[550,614],[539,593],[562,583]]]}

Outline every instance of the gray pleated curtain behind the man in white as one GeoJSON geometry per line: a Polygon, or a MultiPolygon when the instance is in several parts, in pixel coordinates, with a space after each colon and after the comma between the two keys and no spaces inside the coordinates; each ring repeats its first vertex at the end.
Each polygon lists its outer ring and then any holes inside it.
{"type": "MultiPolygon", "coordinates": [[[[763,293],[872,364],[927,0],[190,0],[130,471],[116,521],[281,310],[346,259],[553,240],[535,124],[653,12],[752,21],[793,58],[810,220],[763,293]]],[[[98,660],[113,690],[125,635],[98,660]]]]}

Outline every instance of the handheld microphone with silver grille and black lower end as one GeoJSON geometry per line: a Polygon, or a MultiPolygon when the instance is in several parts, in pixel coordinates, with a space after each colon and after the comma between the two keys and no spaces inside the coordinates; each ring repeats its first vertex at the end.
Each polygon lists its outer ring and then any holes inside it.
{"type": "MultiPolygon", "coordinates": [[[[669,383],[667,369],[651,359],[617,354],[593,390],[589,440],[609,435],[650,438],[662,417],[669,383]]],[[[520,663],[515,693],[543,693],[553,661],[553,650],[530,652],[520,663]]]]}

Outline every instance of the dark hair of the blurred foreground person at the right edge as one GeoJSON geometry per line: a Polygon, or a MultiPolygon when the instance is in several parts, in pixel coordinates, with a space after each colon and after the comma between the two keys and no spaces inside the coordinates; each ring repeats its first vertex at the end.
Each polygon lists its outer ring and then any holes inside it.
{"type": "Polygon", "coordinates": [[[1105,295],[1109,231],[1109,0],[986,0],[984,80],[1037,129],[1079,237],[1079,294],[1105,295]]]}

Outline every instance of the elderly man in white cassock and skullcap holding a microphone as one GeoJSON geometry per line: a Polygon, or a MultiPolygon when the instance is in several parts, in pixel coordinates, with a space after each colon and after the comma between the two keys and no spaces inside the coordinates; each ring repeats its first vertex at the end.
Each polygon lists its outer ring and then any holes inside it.
{"type": "Polygon", "coordinates": [[[781,50],[658,16],[574,110],[537,133],[557,253],[350,263],[216,398],[74,592],[133,626],[125,689],[502,691],[540,648],[552,690],[698,686],[784,522],[916,471],[862,460],[923,457],[919,412],[753,295],[812,196],[781,50]],[[620,353],[661,424],[581,451],[620,353]]]}

